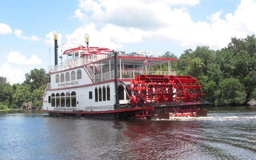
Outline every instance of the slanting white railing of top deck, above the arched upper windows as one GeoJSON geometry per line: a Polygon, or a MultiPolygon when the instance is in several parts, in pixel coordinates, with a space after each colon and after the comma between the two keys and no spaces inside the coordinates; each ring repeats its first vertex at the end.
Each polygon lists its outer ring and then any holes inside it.
{"type": "Polygon", "coordinates": [[[49,66],[47,73],[63,71],[65,69],[82,66],[82,65],[94,62],[94,61],[104,59],[104,58],[107,58],[107,55],[90,55],[90,56],[86,56],[86,57],[83,57],[83,58],[66,60],[63,63],[49,66]]]}

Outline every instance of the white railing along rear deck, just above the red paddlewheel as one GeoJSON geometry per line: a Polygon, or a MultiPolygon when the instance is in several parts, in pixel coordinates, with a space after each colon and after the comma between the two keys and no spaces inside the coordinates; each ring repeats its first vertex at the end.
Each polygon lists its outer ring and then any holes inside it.
{"type": "Polygon", "coordinates": [[[175,71],[136,71],[136,70],[123,70],[118,71],[118,78],[120,79],[133,79],[136,75],[176,75],[175,71]]]}

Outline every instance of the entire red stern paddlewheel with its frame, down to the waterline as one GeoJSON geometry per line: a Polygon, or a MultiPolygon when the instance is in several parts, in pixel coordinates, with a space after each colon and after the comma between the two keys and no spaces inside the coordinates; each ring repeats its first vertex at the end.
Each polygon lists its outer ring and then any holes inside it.
{"type": "Polygon", "coordinates": [[[126,89],[132,91],[129,92],[131,106],[154,106],[152,110],[135,112],[132,118],[153,117],[166,111],[173,115],[195,114],[201,106],[210,104],[203,100],[201,85],[192,76],[138,75],[126,89]]]}

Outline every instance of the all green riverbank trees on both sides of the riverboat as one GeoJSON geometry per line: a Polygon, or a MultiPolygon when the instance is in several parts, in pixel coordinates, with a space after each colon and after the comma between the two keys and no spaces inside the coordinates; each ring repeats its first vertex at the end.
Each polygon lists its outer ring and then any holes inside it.
{"type": "MultiPolygon", "coordinates": [[[[208,46],[187,49],[178,58],[167,51],[162,58],[175,58],[171,63],[177,75],[191,75],[198,79],[205,93],[204,99],[215,106],[256,105],[256,38],[231,38],[227,47],[214,51],[208,46]]],[[[162,69],[167,69],[167,64],[162,69]]],[[[159,69],[160,66],[154,66],[159,69]]],[[[10,85],[0,77],[0,110],[42,106],[42,96],[49,75],[44,69],[26,73],[22,84],[10,85]]]]}

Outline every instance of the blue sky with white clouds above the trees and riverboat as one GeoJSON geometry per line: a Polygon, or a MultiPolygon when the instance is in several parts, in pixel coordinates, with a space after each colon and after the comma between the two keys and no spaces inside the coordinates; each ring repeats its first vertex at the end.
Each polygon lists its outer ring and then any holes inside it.
{"type": "Polygon", "coordinates": [[[198,45],[218,50],[231,37],[255,34],[255,15],[256,0],[1,0],[0,76],[14,84],[34,68],[47,71],[54,31],[61,46],[85,45],[89,34],[89,46],[179,57],[198,45]]]}

